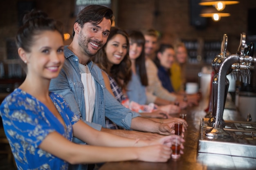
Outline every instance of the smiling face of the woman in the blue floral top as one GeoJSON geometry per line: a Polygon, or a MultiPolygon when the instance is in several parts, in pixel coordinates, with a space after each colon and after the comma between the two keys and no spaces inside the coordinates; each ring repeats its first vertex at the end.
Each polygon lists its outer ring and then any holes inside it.
{"type": "MultiPolygon", "coordinates": [[[[21,53],[27,62],[27,76],[52,79],[58,76],[64,64],[63,38],[58,31],[42,31],[34,36],[30,52],[21,53]]],[[[18,50],[23,51],[21,48],[18,50]]]]}

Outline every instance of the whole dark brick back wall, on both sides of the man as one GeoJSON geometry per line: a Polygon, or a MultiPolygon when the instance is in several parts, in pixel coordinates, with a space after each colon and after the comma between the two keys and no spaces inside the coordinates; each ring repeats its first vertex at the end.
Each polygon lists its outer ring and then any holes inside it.
{"type": "MultiPolygon", "coordinates": [[[[18,29],[18,2],[29,0],[0,1],[0,61],[6,60],[6,40],[14,38],[18,29]]],[[[30,0],[33,1],[33,0],[30,0]]],[[[36,9],[63,22],[65,32],[72,33],[75,18],[74,0],[34,0],[36,9]]],[[[240,0],[229,5],[225,11],[230,17],[213,22],[210,18],[205,29],[197,29],[190,24],[190,0],[112,0],[116,25],[124,29],[159,30],[164,42],[186,40],[222,40],[223,34],[229,38],[228,49],[235,53],[240,33],[247,32],[247,11],[256,8],[256,0],[240,0]]],[[[71,39],[65,44],[70,44],[71,39]]]]}

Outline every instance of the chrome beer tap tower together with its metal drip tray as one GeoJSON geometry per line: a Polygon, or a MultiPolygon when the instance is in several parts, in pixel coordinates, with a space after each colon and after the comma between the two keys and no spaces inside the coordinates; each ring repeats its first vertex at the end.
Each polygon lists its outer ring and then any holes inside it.
{"type": "Polygon", "coordinates": [[[231,74],[237,80],[250,83],[250,71],[256,62],[254,44],[245,47],[245,33],[241,34],[236,54],[227,55],[227,35],[223,37],[220,55],[213,59],[216,75],[212,86],[211,117],[201,120],[198,152],[256,158],[256,123],[247,121],[224,121],[223,112],[231,74]],[[214,148],[218,148],[218,150],[214,148]]]}

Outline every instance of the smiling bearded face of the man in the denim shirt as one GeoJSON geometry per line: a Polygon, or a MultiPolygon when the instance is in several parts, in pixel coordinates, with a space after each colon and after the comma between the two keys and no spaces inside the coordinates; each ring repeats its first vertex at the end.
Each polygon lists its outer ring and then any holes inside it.
{"type": "Polygon", "coordinates": [[[88,57],[94,56],[101,47],[106,43],[110,33],[111,22],[103,18],[99,24],[86,22],[83,27],[75,23],[74,30],[78,34],[78,44],[88,57]]]}

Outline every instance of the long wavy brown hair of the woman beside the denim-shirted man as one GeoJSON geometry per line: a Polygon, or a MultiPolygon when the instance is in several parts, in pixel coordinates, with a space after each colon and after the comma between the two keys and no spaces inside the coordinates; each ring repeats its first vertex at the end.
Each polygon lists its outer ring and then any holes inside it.
{"type": "Polygon", "coordinates": [[[106,44],[99,50],[99,52],[92,58],[92,60],[103,70],[108,73],[115,81],[121,89],[126,89],[128,82],[131,79],[131,61],[129,58],[129,53],[127,50],[124,59],[120,62],[120,64],[114,64],[110,68],[110,63],[106,56],[105,47],[108,44],[109,40],[111,40],[115,35],[121,34],[126,38],[127,49],[129,49],[129,39],[128,34],[123,29],[112,27],[110,29],[110,34],[108,36],[108,40],[106,44]]]}

